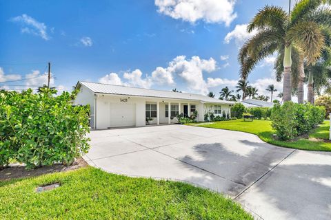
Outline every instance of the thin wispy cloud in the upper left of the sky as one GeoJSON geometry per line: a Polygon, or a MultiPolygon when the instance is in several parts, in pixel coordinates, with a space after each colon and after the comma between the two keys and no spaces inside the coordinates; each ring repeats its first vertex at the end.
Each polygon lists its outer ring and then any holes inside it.
{"type": "Polygon", "coordinates": [[[34,34],[40,36],[44,40],[48,40],[49,36],[47,34],[47,26],[45,23],[41,23],[36,19],[28,16],[27,14],[22,14],[21,16],[13,17],[10,21],[15,23],[21,23],[21,32],[27,34],[34,34]]]}

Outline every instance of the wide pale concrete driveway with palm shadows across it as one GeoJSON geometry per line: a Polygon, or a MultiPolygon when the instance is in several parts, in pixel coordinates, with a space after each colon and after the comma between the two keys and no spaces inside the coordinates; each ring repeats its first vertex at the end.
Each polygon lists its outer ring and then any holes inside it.
{"type": "Polygon", "coordinates": [[[110,173],[187,181],[228,195],[262,219],[331,219],[331,153],[182,125],[91,131],[90,137],[86,160],[110,173]]]}

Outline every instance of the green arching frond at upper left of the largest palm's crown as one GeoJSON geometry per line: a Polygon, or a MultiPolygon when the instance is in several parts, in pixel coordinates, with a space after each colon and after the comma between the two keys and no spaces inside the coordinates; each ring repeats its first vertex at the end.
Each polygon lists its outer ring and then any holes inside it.
{"type": "Polygon", "coordinates": [[[288,16],[283,8],[266,5],[250,21],[247,30],[252,32],[254,29],[265,30],[270,28],[277,30],[279,34],[285,34],[287,22],[288,16]]]}

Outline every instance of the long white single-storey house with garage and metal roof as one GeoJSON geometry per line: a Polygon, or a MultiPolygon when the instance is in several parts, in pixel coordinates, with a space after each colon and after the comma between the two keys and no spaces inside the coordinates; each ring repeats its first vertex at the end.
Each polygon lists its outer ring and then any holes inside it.
{"type": "Polygon", "coordinates": [[[197,121],[212,112],[230,114],[235,102],[219,100],[197,94],[174,91],[142,89],[101,83],[78,82],[79,89],[74,104],[90,104],[90,126],[93,129],[108,129],[121,126],[145,126],[150,124],[177,123],[177,114],[192,115],[198,112],[197,121]],[[170,116],[170,117],[169,117],[170,116]]]}

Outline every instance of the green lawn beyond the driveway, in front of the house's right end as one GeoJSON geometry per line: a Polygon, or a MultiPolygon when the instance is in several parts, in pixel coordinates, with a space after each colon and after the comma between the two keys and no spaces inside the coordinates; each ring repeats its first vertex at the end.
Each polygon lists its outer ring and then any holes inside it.
{"type": "Polygon", "coordinates": [[[310,139],[299,137],[294,141],[274,140],[274,137],[272,136],[274,134],[274,130],[271,127],[271,121],[268,120],[254,120],[252,122],[244,122],[243,119],[238,119],[223,122],[212,122],[212,124],[195,125],[214,129],[226,129],[253,133],[258,135],[261,140],[277,146],[285,146],[288,148],[297,148],[308,151],[331,151],[331,142],[314,140],[314,138],[325,140],[328,139],[330,128],[329,123],[330,122],[325,121],[317,129],[314,129],[314,131],[312,131],[312,133],[309,135],[310,139]]]}

